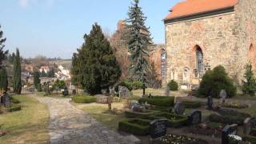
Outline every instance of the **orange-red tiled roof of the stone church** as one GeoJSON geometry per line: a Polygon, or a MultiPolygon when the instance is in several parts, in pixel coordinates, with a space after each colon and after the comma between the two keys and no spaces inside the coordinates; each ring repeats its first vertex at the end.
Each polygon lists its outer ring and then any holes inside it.
{"type": "Polygon", "coordinates": [[[238,0],[186,0],[178,2],[165,20],[235,6],[238,0]]]}

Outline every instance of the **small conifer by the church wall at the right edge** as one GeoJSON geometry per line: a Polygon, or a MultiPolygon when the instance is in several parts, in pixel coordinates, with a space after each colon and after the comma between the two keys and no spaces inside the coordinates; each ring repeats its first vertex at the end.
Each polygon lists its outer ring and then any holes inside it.
{"type": "Polygon", "coordinates": [[[256,79],[254,78],[254,71],[251,64],[246,65],[246,73],[244,74],[245,81],[242,82],[243,94],[254,96],[256,92],[256,79]]]}

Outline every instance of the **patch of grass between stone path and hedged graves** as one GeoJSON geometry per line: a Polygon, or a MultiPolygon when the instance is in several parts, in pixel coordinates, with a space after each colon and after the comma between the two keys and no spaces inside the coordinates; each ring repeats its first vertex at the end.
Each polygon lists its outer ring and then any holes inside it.
{"type": "MultiPolygon", "coordinates": [[[[108,106],[106,104],[98,104],[98,103],[90,103],[90,104],[78,104],[74,103],[74,106],[78,107],[78,109],[85,111],[87,114],[93,116],[98,122],[102,122],[104,126],[109,127],[110,129],[117,130],[118,122],[125,120],[126,117],[124,114],[114,115],[110,114],[108,111],[108,106]]],[[[112,109],[116,108],[121,110],[123,104],[113,103],[112,109]]]]}

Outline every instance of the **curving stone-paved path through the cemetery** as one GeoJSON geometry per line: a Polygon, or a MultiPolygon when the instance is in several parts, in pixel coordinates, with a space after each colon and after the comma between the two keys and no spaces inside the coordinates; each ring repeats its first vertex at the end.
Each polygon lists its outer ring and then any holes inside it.
{"type": "Polygon", "coordinates": [[[102,126],[70,104],[70,98],[38,97],[50,110],[50,143],[130,144],[121,134],[102,126]]]}

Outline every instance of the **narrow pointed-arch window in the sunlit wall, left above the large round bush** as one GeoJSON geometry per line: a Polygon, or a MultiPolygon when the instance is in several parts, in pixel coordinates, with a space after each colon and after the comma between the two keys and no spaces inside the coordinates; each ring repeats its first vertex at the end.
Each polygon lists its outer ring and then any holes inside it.
{"type": "Polygon", "coordinates": [[[197,46],[196,47],[196,69],[198,73],[198,77],[202,78],[203,75],[203,54],[202,54],[202,49],[197,46]]]}

